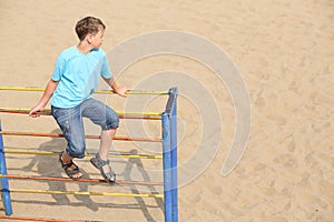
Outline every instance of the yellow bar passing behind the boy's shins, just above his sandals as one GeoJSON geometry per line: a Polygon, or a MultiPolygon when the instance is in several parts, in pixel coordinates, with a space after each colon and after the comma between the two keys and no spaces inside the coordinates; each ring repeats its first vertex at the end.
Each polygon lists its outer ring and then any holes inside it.
{"type": "MultiPolygon", "coordinates": [[[[14,154],[38,154],[38,155],[59,155],[60,152],[40,151],[40,150],[21,150],[21,149],[3,149],[4,153],[14,154]]],[[[85,153],[86,157],[92,157],[94,154],[85,153]]],[[[150,154],[132,154],[132,153],[119,153],[109,154],[110,158],[128,158],[128,159],[163,159],[163,155],[150,154]]]]}

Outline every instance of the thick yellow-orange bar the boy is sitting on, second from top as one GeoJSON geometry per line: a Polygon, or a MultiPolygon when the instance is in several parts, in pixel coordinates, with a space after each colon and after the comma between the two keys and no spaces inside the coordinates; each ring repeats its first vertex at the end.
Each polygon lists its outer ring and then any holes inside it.
{"type": "MultiPolygon", "coordinates": [[[[0,112],[8,113],[20,113],[28,114],[30,109],[27,108],[0,108],[0,112]]],[[[46,109],[43,111],[38,112],[41,115],[51,115],[51,111],[46,109]]],[[[125,112],[125,111],[116,111],[120,119],[143,119],[143,120],[160,120],[161,113],[159,112],[125,112]]]]}

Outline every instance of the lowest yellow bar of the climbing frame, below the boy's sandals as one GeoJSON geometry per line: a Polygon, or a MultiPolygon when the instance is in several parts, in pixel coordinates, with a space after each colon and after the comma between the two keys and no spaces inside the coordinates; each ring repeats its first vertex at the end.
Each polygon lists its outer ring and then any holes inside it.
{"type": "MultiPolygon", "coordinates": [[[[2,192],[2,190],[1,190],[2,192]]],[[[37,194],[72,194],[72,195],[105,195],[105,196],[128,196],[128,198],[164,198],[164,194],[155,193],[107,193],[107,192],[82,192],[82,191],[46,191],[46,190],[26,190],[10,189],[12,193],[37,193],[37,194]]]]}

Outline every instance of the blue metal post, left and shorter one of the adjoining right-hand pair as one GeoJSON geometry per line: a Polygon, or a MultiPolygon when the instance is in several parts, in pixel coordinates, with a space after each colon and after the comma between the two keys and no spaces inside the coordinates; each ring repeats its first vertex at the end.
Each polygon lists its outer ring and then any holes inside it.
{"type": "Polygon", "coordinates": [[[163,114],[163,164],[164,164],[164,201],[165,222],[173,222],[171,171],[170,171],[170,120],[167,113],[163,114]]]}

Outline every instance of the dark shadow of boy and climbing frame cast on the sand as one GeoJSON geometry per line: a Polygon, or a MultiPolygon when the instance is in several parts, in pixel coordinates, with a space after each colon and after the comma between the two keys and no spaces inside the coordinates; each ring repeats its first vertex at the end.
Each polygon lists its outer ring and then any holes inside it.
{"type": "MultiPolygon", "coordinates": [[[[53,130],[52,133],[60,133],[59,130],[53,130]]],[[[63,148],[66,147],[66,140],[63,139],[52,139],[51,141],[45,142],[40,144],[38,148],[39,151],[53,151],[53,152],[61,152],[63,148]]],[[[131,150],[131,154],[137,154],[137,150],[131,150]]],[[[16,158],[13,158],[16,159],[16,158]]],[[[60,163],[58,161],[58,155],[35,155],[32,159],[29,159],[30,162],[23,167],[23,172],[31,172],[33,168],[36,168],[36,173],[41,176],[63,176],[63,170],[60,167],[60,163]]],[[[139,173],[143,176],[144,181],[149,182],[150,178],[147,174],[147,172],[144,170],[144,165],[140,159],[128,159],[127,162],[122,162],[125,164],[125,171],[120,174],[125,176],[126,181],[131,181],[130,174],[134,168],[139,169],[139,173]]],[[[86,179],[89,179],[89,174],[80,168],[84,176],[86,179]]],[[[33,170],[35,171],[35,170],[33,170]]],[[[10,169],[9,169],[10,172],[10,169]]],[[[66,182],[61,181],[39,181],[42,183],[47,183],[50,191],[67,191],[66,182]]],[[[87,192],[89,191],[89,186],[92,184],[90,183],[76,183],[79,186],[80,192],[87,192]]],[[[130,185],[130,191],[132,193],[139,193],[136,185],[130,185]]],[[[151,193],[158,193],[157,190],[154,186],[149,188],[149,191],[151,193]]],[[[153,215],[149,213],[149,209],[157,209],[159,208],[161,210],[161,213],[164,212],[164,201],[161,199],[155,199],[155,204],[147,204],[145,203],[143,198],[135,198],[137,201],[137,204],[117,204],[117,203],[98,203],[91,200],[89,195],[75,195],[75,198],[79,202],[71,202],[67,194],[50,194],[55,202],[50,201],[42,201],[42,200],[12,200],[12,202],[17,203],[24,203],[24,204],[46,204],[46,205],[70,205],[70,206],[86,206],[87,209],[90,209],[91,211],[96,212],[99,208],[114,208],[114,209],[136,209],[141,210],[144,216],[147,221],[156,221],[153,215]]],[[[2,209],[1,209],[2,211],[2,209]]]]}

